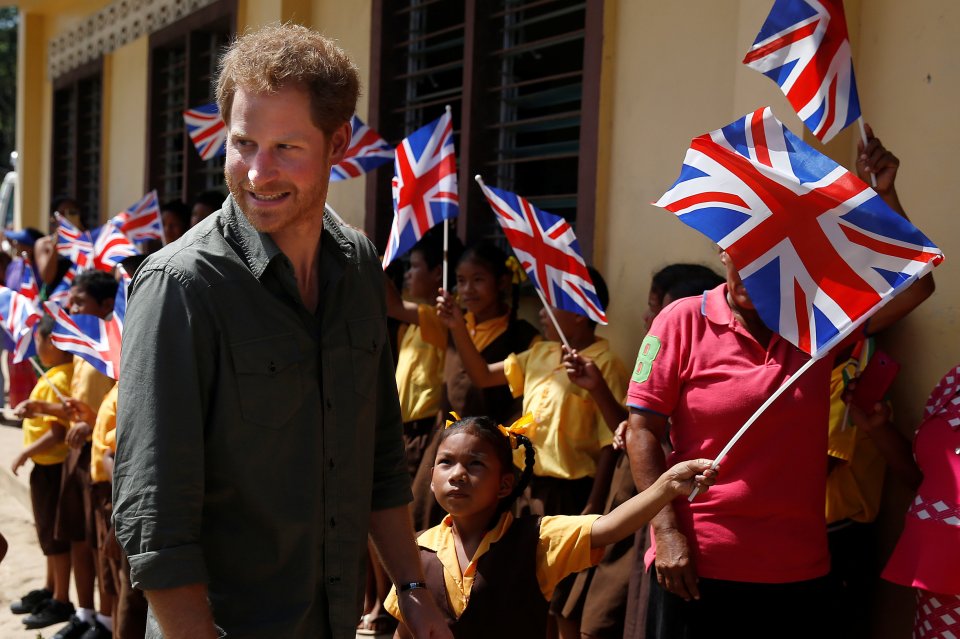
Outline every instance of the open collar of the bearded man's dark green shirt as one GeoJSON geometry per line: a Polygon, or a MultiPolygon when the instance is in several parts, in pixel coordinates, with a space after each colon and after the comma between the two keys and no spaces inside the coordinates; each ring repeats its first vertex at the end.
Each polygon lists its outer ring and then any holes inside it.
{"type": "MultiPolygon", "coordinates": [[[[341,264],[356,263],[357,250],[353,242],[343,233],[338,222],[324,206],[323,233],[320,238],[322,252],[334,257],[341,264]]],[[[270,263],[283,252],[268,233],[253,228],[247,216],[237,206],[233,195],[227,197],[220,212],[228,240],[237,247],[237,252],[253,276],[260,279],[270,263]]]]}

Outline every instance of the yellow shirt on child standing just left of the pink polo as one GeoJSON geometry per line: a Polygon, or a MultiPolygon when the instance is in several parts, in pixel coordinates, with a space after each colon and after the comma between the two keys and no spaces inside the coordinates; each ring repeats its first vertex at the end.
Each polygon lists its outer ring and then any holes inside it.
{"type": "MultiPolygon", "coordinates": [[[[593,477],[600,449],[613,442],[613,432],[603,420],[590,392],[570,381],[561,363],[561,345],[543,341],[504,361],[504,373],[514,397],[523,395],[523,414],[535,422],[527,437],[537,450],[533,472],[541,477],[580,479],[593,477]]],[[[597,339],[580,351],[592,359],[614,397],[625,397],[627,371],[597,339]]],[[[616,428],[616,424],[613,425],[616,428]]],[[[523,467],[523,450],[514,452],[514,463],[523,467]]]]}

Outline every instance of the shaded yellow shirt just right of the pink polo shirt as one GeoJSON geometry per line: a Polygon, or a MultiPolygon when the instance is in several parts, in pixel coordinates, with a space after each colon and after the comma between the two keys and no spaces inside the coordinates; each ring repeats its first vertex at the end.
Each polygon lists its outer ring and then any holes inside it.
{"type": "MultiPolygon", "coordinates": [[[[864,348],[872,355],[873,340],[869,339],[864,348]]],[[[877,518],[880,510],[886,461],[870,436],[854,426],[849,416],[847,423],[843,423],[843,417],[847,414],[842,399],[846,387],[844,373],[848,379],[853,378],[865,366],[858,366],[854,359],[837,366],[830,375],[827,454],[840,461],[834,464],[827,475],[827,524],[844,519],[871,522],[877,518]]]]}

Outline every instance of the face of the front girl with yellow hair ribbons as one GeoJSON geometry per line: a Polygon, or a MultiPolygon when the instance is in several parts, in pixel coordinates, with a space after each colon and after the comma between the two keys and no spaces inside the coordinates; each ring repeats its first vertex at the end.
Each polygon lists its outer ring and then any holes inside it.
{"type": "Polygon", "coordinates": [[[513,490],[510,471],[504,472],[493,444],[472,433],[456,433],[437,449],[430,489],[440,507],[454,517],[478,516],[486,522],[513,490]]]}

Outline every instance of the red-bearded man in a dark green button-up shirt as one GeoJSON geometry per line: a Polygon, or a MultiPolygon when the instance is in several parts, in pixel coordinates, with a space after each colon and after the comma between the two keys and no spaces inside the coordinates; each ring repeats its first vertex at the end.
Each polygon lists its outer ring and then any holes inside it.
{"type": "Polygon", "coordinates": [[[420,637],[424,589],[373,245],[324,207],[358,76],[296,25],[220,64],[218,214],[130,290],[114,472],[117,538],[147,636],[346,637],[369,533],[420,637]]]}

